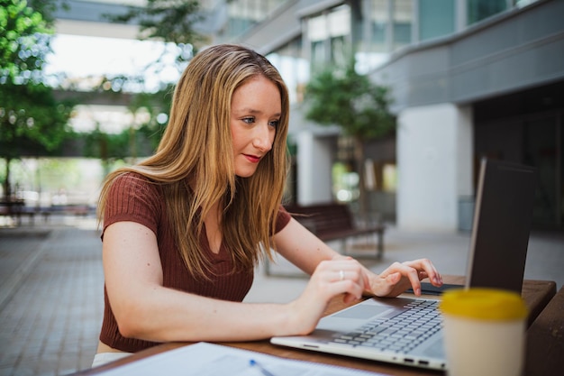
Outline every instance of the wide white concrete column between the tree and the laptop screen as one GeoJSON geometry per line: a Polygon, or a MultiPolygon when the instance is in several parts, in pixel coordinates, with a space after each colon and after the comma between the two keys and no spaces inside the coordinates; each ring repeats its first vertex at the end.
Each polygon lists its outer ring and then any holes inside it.
{"type": "Polygon", "coordinates": [[[469,106],[407,108],[398,116],[397,225],[455,231],[459,197],[473,194],[473,128],[469,106]]]}

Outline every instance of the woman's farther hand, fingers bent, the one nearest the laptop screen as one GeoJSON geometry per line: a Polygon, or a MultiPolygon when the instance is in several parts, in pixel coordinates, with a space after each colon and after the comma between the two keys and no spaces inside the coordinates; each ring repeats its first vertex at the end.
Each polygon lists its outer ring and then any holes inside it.
{"type": "Polygon", "coordinates": [[[395,298],[406,289],[414,289],[416,296],[421,295],[421,280],[429,278],[433,286],[441,287],[441,274],[430,260],[394,262],[385,271],[375,274],[365,269],[368,277],[367,293],[377,297],[395,298]]]}

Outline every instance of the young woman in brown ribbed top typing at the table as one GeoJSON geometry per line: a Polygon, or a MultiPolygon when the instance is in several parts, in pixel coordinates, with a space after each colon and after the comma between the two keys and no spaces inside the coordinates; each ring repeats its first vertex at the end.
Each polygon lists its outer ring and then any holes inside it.
{"type": "Polygon", "coordinates": [[[102,190],[105,316],[95,364],[169,341],[251,341],[314,330],[331,298],[396,297],[431,261],[375,274],[334,252],[281,206],[288,94],[268,60],[207,48],[180,78],[156,153],[102,190]],[[271,251],[274,250],[274,251],[271,251]],[[287,304],[241,303],[262,257],[311,274],[287,304]]]}

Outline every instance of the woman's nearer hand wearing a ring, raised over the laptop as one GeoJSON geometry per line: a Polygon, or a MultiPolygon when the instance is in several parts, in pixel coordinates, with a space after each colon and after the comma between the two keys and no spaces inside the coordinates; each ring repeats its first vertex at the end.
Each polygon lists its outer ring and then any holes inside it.
{"type": "Polygon", "coordinates": [[[345,303],[362,297],[368,280],[359,261],[346,258],[321,261],[315,268],[302,295],[290,303],[288,329],[293,335],[307,335],[314,331],[330,300],[343,294],[345,303]]]}

